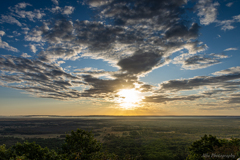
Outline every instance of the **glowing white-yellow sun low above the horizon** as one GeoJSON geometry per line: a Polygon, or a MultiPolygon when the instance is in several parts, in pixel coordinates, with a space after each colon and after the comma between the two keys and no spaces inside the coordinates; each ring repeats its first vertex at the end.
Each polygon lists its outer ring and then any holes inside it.
{"type": "Polygon", "coordinates": [[[123,109],[134,109],[143,99],[140,92],[135,89],[122,89],[117,94],[119,95],[117,102],[123,109]]]}

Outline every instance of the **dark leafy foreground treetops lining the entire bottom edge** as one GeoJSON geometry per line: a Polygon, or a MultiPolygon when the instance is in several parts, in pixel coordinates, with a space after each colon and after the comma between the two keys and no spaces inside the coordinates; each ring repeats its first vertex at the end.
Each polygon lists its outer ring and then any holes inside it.
{"type": "MultiPolygon", "coordinates": [[[[134,135],[136,136],[136,135],[134,135]]],[[[139,138],[139,137],[132,137],[139,138]]],[[[129,137],[130,140],[130,137],[129,137]]],[[[123,144],[125,145],[125,144],[123,144]]],[[[141,147],[139,144],[133,144],[134,150],[132,154],[138,154],[132,156],[121,151],[122,156],[118,156],[114,153],[110,154],[102,150],[101,143],[94,139],[91,132],[77,129],[76,132],[72,131],[70,135],[66,135],[65,142],[60,149],[49,150],[49,148],[42,148],[35,142],[29,143],[17,143],[9,148],[6,145],[0,146],[1,160],[134,160],[134,159],[184,159],[186,155],[181,153],[170,155],[163,150],[153,152],[154,157],[145,157],[141,155],[141,147]]],[[[112,146],[114,147],[114,145],[112,146]]],[[[154,146],[153,146],[154,147],[154,146]]],[[[154,150],[154,149],[153,149],[154,150]]],[[[200,140],[195,141],[189,147],[189,154],[186,160],[214,160],[214,159],[229,159],[235,160],[240,157],[240,139],[233,138],[231,140],[217,139],[212,135],[205,135],[200,140]]]]}

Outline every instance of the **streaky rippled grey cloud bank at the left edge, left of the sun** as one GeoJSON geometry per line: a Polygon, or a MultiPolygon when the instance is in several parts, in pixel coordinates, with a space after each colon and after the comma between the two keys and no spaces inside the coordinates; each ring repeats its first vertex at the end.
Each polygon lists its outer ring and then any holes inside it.
{"type": "MultiPolygon", "coordinates": [[[[26,54],[23,54],[26,56],[26,54]]],[[[14,56],[0,57],[0,79],[5,87],[25,90],[34,96],[67,100],[80,98],[81,92],[71,89],[71,81],[81,81],[61,67],[39,59],[30,60],[14,56]]]]}

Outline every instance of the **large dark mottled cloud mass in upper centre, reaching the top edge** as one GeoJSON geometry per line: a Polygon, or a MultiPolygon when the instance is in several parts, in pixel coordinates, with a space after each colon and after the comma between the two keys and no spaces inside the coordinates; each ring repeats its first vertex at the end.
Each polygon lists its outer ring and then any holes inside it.
{"type": "MultiPolygon", "coordinates": [[[[186,4],[184,0],[171,2],[140,0],[137,3],[129,2],[129,5],[125,5],[125,1],[117,0],[86,3],[94,7],[100,17],[112,18],[113,23],[104,24],[101,22],[102,19],[56,20],[54,25],[48,26],[48,31],[39,32],[52,44],[46,51],[40,53],[40,56],[62,58],[64,55],[72,55],[77,58],[78,54],[82,53],[81,57],[103,59],[113,66],[118,66],[119,61],[122,63],[128,57],[139,58],[134,54],[142,50],[144,53],[156,52],[149,53],[151,55],[162,55],[161,62],[165,61],[164,64],[167,64],[170,61],[167,57],[174,52],[188,49],[189,52],[195,53],[205,48],[205,45],[199,46],[197,41],[194,42],[198,38],[200,27],[196,23],[186,24],[185,20],[179,18],[184,13],[182,10],[182,5],[186,4]],[[143,8],[146,10],[144,14],[143,8]],[[55,44],[59,44],[58,50],[70,51],[77,48],[77,51],[74,51],[76,54],[57,54],[55,44]]],[[[26,39],[31,40],[31,37],[26,39]]]]}

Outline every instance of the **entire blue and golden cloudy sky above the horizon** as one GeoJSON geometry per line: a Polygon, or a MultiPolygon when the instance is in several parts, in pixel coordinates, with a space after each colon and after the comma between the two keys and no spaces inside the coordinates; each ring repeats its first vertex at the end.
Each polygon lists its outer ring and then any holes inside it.
{"type": "Polygon", "coordinates": [[[0,115],[240,115],[240,1],[0,5],[0,115]]]}

